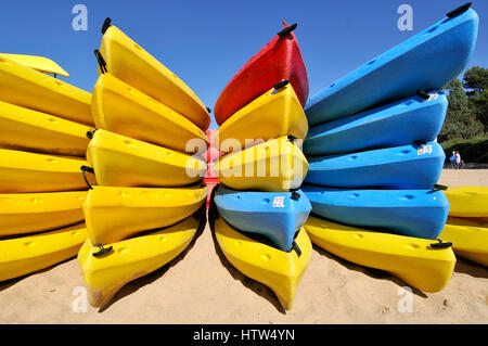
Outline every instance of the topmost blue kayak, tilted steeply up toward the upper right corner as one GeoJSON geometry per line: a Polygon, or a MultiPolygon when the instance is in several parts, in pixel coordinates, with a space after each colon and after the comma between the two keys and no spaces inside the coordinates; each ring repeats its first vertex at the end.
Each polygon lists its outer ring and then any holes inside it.
{"type": "Polygon", "coordinates": [[[310,98],[310,125],[440,89],[464,71],[473,53],[478,15],[468,7],[352,71],[310,98]]]}

